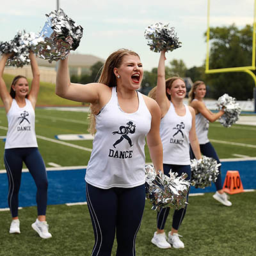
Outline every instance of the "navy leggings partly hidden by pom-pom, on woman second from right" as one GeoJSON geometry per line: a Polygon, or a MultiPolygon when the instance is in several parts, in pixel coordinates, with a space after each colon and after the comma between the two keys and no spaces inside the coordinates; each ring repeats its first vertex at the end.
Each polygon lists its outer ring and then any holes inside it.
{"type": "MultiPolygon", "coordinates": [[[[182,173],[187,173],[188,177],[186,180],[190,179],[191,176],[191,169],[190,165],[177,165],[177,164],[164,164],[164,174],[169,175],[170,169],[172,169],[172,172],[177,172],[179,176],[182,175],[182,173]]],[[[188,191],[189,195],[189,191],[188,191]]],[[[188,195],[187,195],[187,202],[188,202],[188,195]]],[[[176,230],[179,230],[179,227],[184,219],[184,216],[186,214],[187,210],[187,204],[184,208],[175,210],[173,212],[173,218],[172,218],[172,227],[176,230]]],[[[159,212],[157,212],[157,228],[164,229],[164,225],[166,223],[168,214],[170,212],[170,207],[161,208],[159,212]]]]}

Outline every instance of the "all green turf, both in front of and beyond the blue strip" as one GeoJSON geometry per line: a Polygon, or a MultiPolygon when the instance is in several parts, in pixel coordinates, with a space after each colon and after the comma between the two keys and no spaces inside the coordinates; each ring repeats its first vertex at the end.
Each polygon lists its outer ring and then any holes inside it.
{"type": "MultiPolygon", "coordinates": [[[[61,166],[87,165],[92,141],[65,141],[71,145],[56,143],[57,134],[84,134],[87,132],[87,114],[73,111],[56,111],[36,108],[36,134],[38,146],[45,165],[56,163],[61,166]],[[48,141],[48,139],[56,140],[48,141]],[[72,147],[73,146],[73,147],[72,147]],[[82,148],[75,148],[80,146],[82,148]]],[[[5,111],[0,108],[0,136],[6,134],[5,111]]],[[[210,125],[209,138],[223,143],[212,143],[220,158],[234,158],[233,154],[256,157],[253,147],[234,146],[230,142],[256,145],[256,127],[234,125],[225,128],[215,122],[210,125]]],[[[3,165],[4,142],[0,142],[0,170],[3,165]]],[[[147,162],[150,162],[146,148],[147,162]]],[[[224,207],[212,199],[212,193],[189,198],[188,213],[180,234],[185,248],[161,250],[150,243],[156,228],[156,212],[147,202],[143,222],[136,242],[137,255],[256,255],[256,192],[232,195],[232,207],[224,207]]],[[[43,240],[31,228],[35,221],[36,207],[20,210],[22,234],[10,235],[10,212],[0,212],[0,256],[23,255],[90,255],[93,246],[92,224],[86,205],[49,205],[47,220],[52,239],[43,240]]],[[[170,214],[168,223],[171,223],[170,214]]],[[[170,230],[170,228],[166,228],[170,230]]],[[[116,244],[113,252],[115,252],[116,244]]],[[[115,253],[113,253],[115,255],[115,253]]]]}

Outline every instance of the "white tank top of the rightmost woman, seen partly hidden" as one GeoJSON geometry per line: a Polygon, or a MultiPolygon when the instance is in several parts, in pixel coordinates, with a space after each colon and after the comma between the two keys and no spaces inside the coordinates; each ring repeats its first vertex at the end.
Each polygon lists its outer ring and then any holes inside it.
{"type": "Polygon", "coordinates": [[[207,120],[207,118],[205,118],[201,113],[196,114],[196,136],[199,144],[206,144],[209,142],[208,129],[209,120],[207,120]]]}

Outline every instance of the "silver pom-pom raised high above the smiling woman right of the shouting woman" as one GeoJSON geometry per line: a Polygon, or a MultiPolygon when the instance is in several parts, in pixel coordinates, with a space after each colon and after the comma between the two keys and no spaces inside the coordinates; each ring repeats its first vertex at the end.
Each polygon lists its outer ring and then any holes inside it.
{"type": "Polygon", "coordinates": [[[169,24],[157,22],[145,29],[144,36],[148,39],[150,50],[154,52],[173,51],[181,47],[181,42],[175,33],[174,28],[169,24]]]}

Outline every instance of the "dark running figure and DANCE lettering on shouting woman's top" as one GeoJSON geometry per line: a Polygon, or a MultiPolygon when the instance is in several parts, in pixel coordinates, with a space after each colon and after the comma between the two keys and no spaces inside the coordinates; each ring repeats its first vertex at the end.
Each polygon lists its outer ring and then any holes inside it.
{"type": "MultiPolygon", "coordinates": [[[[121,143],[122,141],[124,141],[124,139],[129,143],[130,147],[132,147],[132,140],[131,138],[128,136],[128,134],[133,134],[135,132],[136,125],[133,124],[133,122],[129,121],[127,122],[126,126],[121,125],[119,127],[119,131],[113,131],[112,134],[119,134],[120,138],[118,140],[115,141],[115,143],[113,144],[113,147],[116,148],[116,145],[118,145],[119,143],[121,143]]],[[[125,142],[125,141],[124,141],[125,142]]],[[[132,157],[132,150],[125,150],[125,151],[118,151],[118,150],[113,150],[113,149],[109,149],[109,157],[115,157],[115,158],[131,158],[132,157]]]]}

